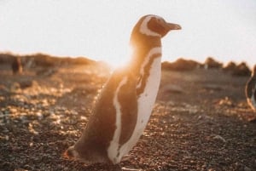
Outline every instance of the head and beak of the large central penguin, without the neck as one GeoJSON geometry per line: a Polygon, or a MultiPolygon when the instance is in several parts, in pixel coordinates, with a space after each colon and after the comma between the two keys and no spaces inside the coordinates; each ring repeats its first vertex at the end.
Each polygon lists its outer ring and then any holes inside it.
{"type": "Polygon", "coordinates": [[[162,17],[148,14],[138,21],[140,33],[151,37],[165,37],[169,31],[181,30],[181,26],[168,23],[162,17]]]}

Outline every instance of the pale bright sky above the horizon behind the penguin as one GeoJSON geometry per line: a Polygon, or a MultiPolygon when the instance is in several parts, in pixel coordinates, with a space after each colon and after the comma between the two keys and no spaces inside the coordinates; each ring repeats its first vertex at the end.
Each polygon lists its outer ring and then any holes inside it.
{"type": "Polygon", "coordinates": [[[129,60],[131,30],[157,14],[183,27],[162,39],[163,61],[211,56],[256,64],[255,0],[0,0],[0,53],[129,60]]]}

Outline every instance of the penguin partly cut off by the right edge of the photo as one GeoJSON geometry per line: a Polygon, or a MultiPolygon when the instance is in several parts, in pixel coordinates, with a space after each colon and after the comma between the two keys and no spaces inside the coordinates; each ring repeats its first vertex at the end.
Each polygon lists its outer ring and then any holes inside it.
{"type": "Polygon", "coordinates": [[[247,81],[246,96],[248,105],[256,111],[256,65],[253,67],[252,76],[247,81]]]}

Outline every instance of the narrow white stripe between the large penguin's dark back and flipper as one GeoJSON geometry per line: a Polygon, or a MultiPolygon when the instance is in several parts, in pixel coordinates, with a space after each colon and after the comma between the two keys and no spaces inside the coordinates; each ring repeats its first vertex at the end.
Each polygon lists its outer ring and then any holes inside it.
{"type": "MultiPolygon", "coordinates": [[[[121,157],[118,157],[119,153],[119,138],[121,134],[121,106],[119,104],[118,100],[118,94],[119,94],[119,89],[127,83],[127,77],[124,77],[123,80],[119,83],[118,88],[116,89],[116,92],[113,96],[113,106],[115,107],[115,112],[116,112],[116,119],[115,119],[115,126],[116,129],[113,134],[113,140],[110,142],[110,145],[108,147],[108,157],[113,163],[118,163],[121,159],[121,157]]],[[[120,155],[119,155],[120,156],[120,155]]]]}

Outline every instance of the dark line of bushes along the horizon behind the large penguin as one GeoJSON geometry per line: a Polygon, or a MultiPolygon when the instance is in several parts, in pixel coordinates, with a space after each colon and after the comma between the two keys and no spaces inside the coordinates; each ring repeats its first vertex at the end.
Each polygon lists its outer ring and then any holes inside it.
{"type": "MultiPolygon", "coordinates": [[[[97,65],[108,66],[107,63],[90,60],[85,57],[57,57],[49,54],[29,54],[29,55],[15,55],[15,54],[0,54],[0,64],[9,64],[14,61],[16,57],[20,57],[22,65],[28,68],[35,66],[52,67],[52,66],[68,66],[68,65],[97,65]]],[[[235,62],[230,61],[226,66],[223,63],[208,57],[204,63],[195,60],[185,60],[179,58],[174,62],[165,61],[162,63],[162,70],[165,71],[191,71],[198,68],[221,69],[229,72],[234,76],[250,76],[251,71],[245,62],[236,65],[235,62]]]]}

